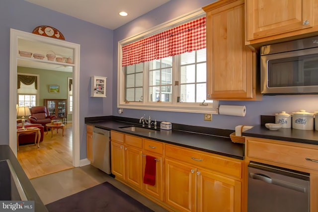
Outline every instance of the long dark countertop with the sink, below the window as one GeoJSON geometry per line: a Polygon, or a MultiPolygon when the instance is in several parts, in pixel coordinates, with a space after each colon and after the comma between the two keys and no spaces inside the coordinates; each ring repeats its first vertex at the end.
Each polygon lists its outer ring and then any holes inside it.
{"type": "MultiPolygon", "coordinates": [[[[171,131],[157,130],[156,132],[152,133],[139,133],[121,129],[121,127],[129,125],[136,126],[138,125],[137,123],[118,121],[114,120],[114,118],[108,120],[94,120],[91,118],[85,118],[85,124],[89,124],[105,130],[113,130],[121,133],[139,136],[146,139],[162,141],[165,143],[211,152],[232,158],[244,159],[244,145],[241,143],[232,142],[230,139],[230,133],[228,131],[226,131],[228,137],[225,137],[224,135],[217,134],[209,135],[206,133],[189,132],[188,130],[173,130],[174,124],[172,124],[171,131]]],[[[211,131],[217,132],[218,130],[211,129],[211,131]]],[[[224,130],[219,131],[222,132],[224,130]]]]}

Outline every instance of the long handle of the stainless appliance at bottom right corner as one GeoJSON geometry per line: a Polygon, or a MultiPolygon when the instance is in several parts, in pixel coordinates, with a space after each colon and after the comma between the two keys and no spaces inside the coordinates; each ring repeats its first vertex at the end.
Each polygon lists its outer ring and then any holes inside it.
{"type": "Polygon", "coordinates": [[[261,180],[265,183],[269,183],[269,184],[273,184],[273,185],[276,185],[276,186],[281,186],[281,187],[284,187],[284,188],[287,188],[287,189],[292,189],[292,190],[295,190],[295,191],[298,191],[298,192],[302,192],[302,193],[306,193],[306,188],[303,187],[303,186],[299,186],[299,185],[296,185],[296,184],[293,184],[293,183],[289,183],[289,182],[286,182],[286,181],[282,181],[282,180],[278,180],[278,179],[275,179],[275,178],[270,178],[269,176],[265,175],[265,174],[254,174],[254,173],[249,173],[249,177],[252,178],[252,179],[255,179],[255,180],[261,180]]]}

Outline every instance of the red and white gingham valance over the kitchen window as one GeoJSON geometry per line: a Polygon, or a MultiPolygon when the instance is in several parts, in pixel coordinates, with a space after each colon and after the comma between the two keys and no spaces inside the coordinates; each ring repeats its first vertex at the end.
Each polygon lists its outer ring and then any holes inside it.
{"type": "Polygon", "coordinates": [[[122,66],[158,60],[206,47],[206,18],[202,17],[122,47],[122,66]]]}

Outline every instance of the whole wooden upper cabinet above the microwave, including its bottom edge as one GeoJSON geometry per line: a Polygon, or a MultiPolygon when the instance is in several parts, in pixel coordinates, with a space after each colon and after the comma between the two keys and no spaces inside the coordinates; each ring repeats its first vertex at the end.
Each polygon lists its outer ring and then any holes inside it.
{"type": "Polygon", "coordinates": [[[246,45],[318,35],[318,0],[245,0],[246,45]]]}

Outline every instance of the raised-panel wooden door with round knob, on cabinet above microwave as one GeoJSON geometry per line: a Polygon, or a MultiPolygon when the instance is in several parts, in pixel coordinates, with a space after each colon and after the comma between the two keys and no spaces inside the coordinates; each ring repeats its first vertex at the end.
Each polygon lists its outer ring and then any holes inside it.
{"type": "Polygon", "coordinates": [[[247,41],[313,27],[314,0],[245,0],[247,41]]]}

